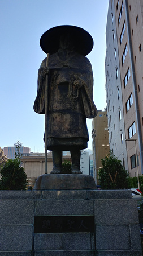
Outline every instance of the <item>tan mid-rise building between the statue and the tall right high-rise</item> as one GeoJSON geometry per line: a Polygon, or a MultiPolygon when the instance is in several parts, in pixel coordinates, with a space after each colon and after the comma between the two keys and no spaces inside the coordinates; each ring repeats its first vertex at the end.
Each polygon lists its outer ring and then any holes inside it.
{"type": "Polygon", "coordinates": [[[101,159],[109,154],[109,131],[107,109],[98,110],[98,114],[92,122],[93,138],[93,172],[96,184],[98,184],[98,170],[102,168],[101,159]]]}

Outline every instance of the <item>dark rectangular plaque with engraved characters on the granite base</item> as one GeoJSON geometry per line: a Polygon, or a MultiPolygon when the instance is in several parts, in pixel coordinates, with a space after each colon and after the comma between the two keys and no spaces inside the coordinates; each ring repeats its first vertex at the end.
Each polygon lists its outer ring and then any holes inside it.
{"type": "Polygon", "coordinates": [[[94,216],[36,216],[34,233],[94,233],[94,216]]]}

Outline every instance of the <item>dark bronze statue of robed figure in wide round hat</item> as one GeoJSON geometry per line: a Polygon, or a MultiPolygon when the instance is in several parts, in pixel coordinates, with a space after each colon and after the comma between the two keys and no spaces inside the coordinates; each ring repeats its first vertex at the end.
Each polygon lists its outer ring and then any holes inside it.
{"type": "Polygon", "coordinates": [[[80,150],[89,140],[86,118],[94,118],[93,73],[85,57],[93,48],[93,39],[83,28],[58,26],[47,30],[40,40],[50,53],[38,71],[38,90],[34,111],[45,114],[45,77],[48,73],[47,150],[53,152],[53,170],[60,174],[62,151],[70,150],[72,173],[80,174],[80,150]]]}

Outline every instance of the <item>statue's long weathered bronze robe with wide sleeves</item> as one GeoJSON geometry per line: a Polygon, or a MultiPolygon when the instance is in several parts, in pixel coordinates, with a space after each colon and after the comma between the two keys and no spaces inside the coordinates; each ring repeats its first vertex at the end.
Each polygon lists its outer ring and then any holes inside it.
{"type": "MultiPolygon", "coordinates": [[[[42,70],[46,59],[38,71],[38,90],[34,111],[45,114],[45,79],[42,70]]],[[[87,147],[89,140],[86,117],[94,118],[97,109],[93,97],[93,73],[90,61],[74,51],[63,51],[49,56],[48,75],[48,117],[47,149],[60,146],[70,150],[71,146],[87,147]],[[76,89],[74,80],[81,80],[83,86],[76,89]]]]}

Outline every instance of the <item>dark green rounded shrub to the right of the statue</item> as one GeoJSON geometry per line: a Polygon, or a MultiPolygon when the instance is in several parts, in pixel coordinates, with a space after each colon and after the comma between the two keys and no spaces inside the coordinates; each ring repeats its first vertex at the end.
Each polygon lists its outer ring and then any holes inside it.
{"type": "Polygon", "coordinates": [[[113,150],[101,159],[103,168],[99,170],[101,189],[129,188],[128,171],[122,166],[121,160],[115,157],[113,150]]]}

